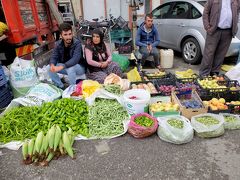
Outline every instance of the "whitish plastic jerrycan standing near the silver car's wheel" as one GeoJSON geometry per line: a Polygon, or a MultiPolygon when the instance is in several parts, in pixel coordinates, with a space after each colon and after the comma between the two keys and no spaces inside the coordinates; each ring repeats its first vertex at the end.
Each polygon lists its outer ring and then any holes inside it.
{"type": "Polygon", "coordinates": [[[172,49],[161,49],[160,50],[160,62],[162,68],[173,67],[173,50],[172,49]]]}

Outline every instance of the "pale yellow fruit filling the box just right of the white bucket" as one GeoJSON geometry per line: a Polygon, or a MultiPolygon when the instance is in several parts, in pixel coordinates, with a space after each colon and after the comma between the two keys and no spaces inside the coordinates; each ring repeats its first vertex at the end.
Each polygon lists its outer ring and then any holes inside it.
{"type": "Polygon", "coordinates": [[[150,105],[150,111],[178,111],[179,105],[171,102],[156,102],[150,105]]]}

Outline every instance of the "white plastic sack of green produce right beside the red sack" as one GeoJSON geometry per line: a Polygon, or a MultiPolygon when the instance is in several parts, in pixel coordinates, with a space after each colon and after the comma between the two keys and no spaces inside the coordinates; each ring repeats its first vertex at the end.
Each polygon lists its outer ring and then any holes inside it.
{"type": "Polygon", "coordinates": [[[184,116],[167,116],[158,118],[157,134],[163,141],[184,144],[192,141],[193,128],[184,116]]]}

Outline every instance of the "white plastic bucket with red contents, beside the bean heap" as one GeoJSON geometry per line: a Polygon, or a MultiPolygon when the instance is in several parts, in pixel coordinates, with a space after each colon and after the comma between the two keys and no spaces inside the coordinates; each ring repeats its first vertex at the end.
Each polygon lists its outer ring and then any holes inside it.
{"type": "Polygon", "coordinates": [[[123,94],[125,107],[130,115],[146,112],[150,103],[150,93],[144,89],[131,89],[123,94]],[[130,99],[135,96],[136,99],[130,99]]]}

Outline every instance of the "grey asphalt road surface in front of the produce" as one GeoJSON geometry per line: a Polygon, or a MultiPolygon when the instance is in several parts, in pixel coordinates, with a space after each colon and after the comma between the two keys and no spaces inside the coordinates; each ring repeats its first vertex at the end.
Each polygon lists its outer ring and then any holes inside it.
{"type": "MultiPolygon", "coordinates": [[[[176,69],[194,69],[181,58],[176,69]]],[[[62,157],[48,167],[23,165],[21,150],[0,149],[1,180],[239,180],[240,130],[226,131],[218,138],[194,137],[174,145],[157,134],[135,139],[129,134],[110,140],[75,141],[76,159],[62,157]]]]}

